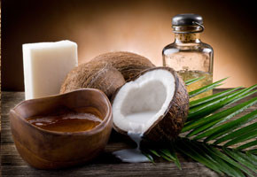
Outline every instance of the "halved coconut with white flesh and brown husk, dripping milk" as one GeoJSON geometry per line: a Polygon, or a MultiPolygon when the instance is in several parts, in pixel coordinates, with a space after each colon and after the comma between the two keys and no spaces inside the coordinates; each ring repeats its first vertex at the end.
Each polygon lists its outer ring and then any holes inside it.
{"type": "Polygon", "coordinates": [[[183,80],[169,67],[139,73],[113,96],[113,127],[121,134],[143,134],[163,142],[173,140],[183,128],[189,96],[183,80]]]}

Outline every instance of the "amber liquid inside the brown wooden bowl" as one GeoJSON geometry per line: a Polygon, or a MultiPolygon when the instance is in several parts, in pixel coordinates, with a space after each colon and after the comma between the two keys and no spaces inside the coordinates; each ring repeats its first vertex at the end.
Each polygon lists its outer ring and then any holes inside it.
{"type": "Polygon", "coordinates": [[[27,121],[55,132],[83,132],[97,127],[103,120],[95,108],[84,108],[83,112],[61,109],[50,115],[28,118],[27,121]]]}

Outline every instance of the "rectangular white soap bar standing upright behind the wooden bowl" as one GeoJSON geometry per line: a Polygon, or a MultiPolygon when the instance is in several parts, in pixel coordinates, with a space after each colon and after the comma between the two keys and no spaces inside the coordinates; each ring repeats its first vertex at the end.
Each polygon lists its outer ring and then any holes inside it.
{"type": "Polygon", "coordinates": [[[58,94],[66,74],[78,65],[75,42],[27,43],[22,50],[26,99],[58,94]]]}

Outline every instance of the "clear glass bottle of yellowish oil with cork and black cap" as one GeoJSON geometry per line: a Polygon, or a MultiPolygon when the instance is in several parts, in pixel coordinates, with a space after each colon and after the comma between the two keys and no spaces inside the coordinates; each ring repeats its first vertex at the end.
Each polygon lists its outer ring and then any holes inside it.
{"type": "MultiPolygon", "coordinates": [[[[213,82],[213,48],[200,41],[204,31],[203,19],[197,14],[179,14],[172,19],[175,42],[162,50],[163,65],[174,68],[188,81],[204,76],[204,79],[188,86],[188,91],[199,89],[213,82]]],[[[212,95],[212,90],[194,96],[191,100],[212,95]]]]}

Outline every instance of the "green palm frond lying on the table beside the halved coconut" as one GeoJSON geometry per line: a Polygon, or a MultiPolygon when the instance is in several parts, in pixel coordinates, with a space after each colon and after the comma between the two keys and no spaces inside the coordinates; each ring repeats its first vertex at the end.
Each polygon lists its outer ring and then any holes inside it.
{"type": "MultiPolygon", "coordinates": [[[[203,79],[196,78],[185,81],[191,83],[203,79]]],[[[193,90],[190,97],[197,96],[207,90],[222,85],[216,81],[203,88],[193,90]]],[[[180,152],[199,163],[206,165],[216,173],[229,176],[257,175],[257,110],[249,112],[238,119],[232,119],[238,113],[257,103],[257,97],[217,112],[226,105],[251,96],[257,92],[257,84],[241,89],[228,89],[213,96],[206,96],[191,101],[188,119],[182,133],[175,142],[165,147],[143,150],[144,155],[154,162],[154,158],[163,158],[174,162],[181,169],[176,156],[180,152]]]]}

